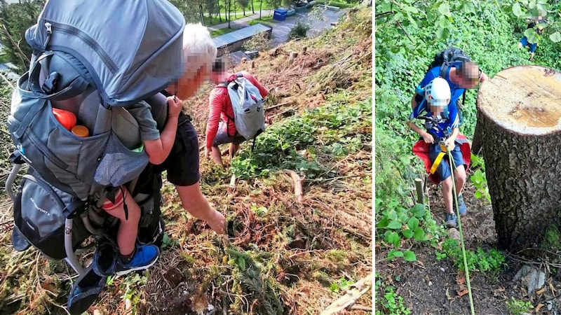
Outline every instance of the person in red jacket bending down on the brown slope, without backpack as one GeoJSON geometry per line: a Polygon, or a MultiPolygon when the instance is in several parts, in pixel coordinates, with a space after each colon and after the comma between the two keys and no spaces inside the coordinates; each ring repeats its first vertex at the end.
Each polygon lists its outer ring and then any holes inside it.
{"type": "MultiPolygon", "coordinates": [[[[244,78],[259,89],[261,97],[265,98],[269,91],[248,71],[241,71],[244,78]]],[[[216,59],[212,65],[212,74],[210,79],[213,83],[227,83],[236,77],[236,73],[226,71],[226,66],[222,59],[216,59]]],[[[205,158],[212,155],[212,160],[217,165],[224,167],[222,163],[222,153],[218,146],[220,144],[230,144],[229,156],[230,160],[234,158],[234,154],[238,151],[240,144],[246,139],[236,131],[234,123],[234,109],[226,87],[217,86],[210,92],[208,97],[210,111],[208,113],[208,123],[206,124],[206,140],[205,140],[205,158]]]]}

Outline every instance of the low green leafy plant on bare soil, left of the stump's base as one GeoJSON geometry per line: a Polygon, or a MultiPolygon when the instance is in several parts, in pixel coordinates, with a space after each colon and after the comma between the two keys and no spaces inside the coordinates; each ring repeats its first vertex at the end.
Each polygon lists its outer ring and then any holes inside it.
{"type": "MultiPolygon", "coordinates": [[[[442,255],[450,258],[459,270],[464,271],[464,256],[456,239],[446,239],[442,243],[440,257],[444,258],[442,255]]],[[[476,251],[466,251],[466,260],[470,272],[489,272],[492,275],[498,274],[505,262],[504,255],[500,251],[494,248],[484,251],[480,247],[476,251]]]]}

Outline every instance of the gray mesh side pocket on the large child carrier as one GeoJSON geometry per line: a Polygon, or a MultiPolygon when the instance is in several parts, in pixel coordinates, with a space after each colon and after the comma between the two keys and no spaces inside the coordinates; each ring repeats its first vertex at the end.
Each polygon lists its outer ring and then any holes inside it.
{"type": "Polygon", "coordinates": [[[146,165],[148,155],[144,148],[140,152],[131,151],[111,133],[94,179],[102,186],[119,187],[139,176],[146,165]]]}

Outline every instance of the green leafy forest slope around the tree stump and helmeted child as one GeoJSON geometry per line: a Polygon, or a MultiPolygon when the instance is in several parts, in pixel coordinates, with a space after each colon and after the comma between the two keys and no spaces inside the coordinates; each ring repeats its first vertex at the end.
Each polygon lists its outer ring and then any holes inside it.
{"type": "MultiPolygon", "coordinates": [[[[405,124],[411,98],[436,52],[461,48],[492,78],[510,66],[539,64],[561,69],[559,1],[396,1],[375,8],[375,279],[377,314],[469,314],[464,260],[457,230],[442,227],[438,186],[428,184],[428,204],[415,204],[414,179],[424,165],[412,153],[419,136],[405,124]],[[548,25],[534,60],[518,49],[525,18],[547,11],[548,25]]],[[[533,29],[529,30],[534,32],[533,29]]],[[[461,132],[473,139],[478,89],[466,91],[461,132]]],[[[508,93],[508,91],[504,91],[508,93]]],[[[417,122],[419,125],[422,122],[417,122]]],[[[522,314],[531,307],[559,311],[558,262],[529,261],[496,249],[485,163],[473,156],[464,198],[464,243],[475,314],[522,314]],[[522,265],[547,271],[539,294],[515,279],[522,265]],[[545,287],[544,287],[545,288],[545,287]],[[557,302],[556,302],[557,301],[557,302]]],[[[553,235],[553,239],[557,239],[553,235]]],[[[559,251],[551,248],[558,255],[559,251]]],[[[546,313],[547,314],[547,313],[546,313]]]]}

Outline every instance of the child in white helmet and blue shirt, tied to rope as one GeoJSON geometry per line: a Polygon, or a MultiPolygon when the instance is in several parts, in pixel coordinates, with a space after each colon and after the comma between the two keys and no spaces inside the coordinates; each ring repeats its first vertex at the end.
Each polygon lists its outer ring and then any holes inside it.
{"type": "Polygon", "coordinates": [[[464,197],[461,190],[466,183],[465,162],[462,158],[459,145],[455,143],[459,134],[459,114],[456,103],[450,103],[450,85],[443,78],[434,78],[424,88],[424,102],[421,102],[413,109],[410,115],[408,125],[414,132],[417,132],[421,138],[431,144],[428,156],[433,166],[438,164],[435,174],[438,174],[442,183],[442,197],[445,205],[445,225],[447,228],[455,228],[457,225],[457,216],[454,214],[453,197],[452,197],[452,164],[446,161],[447,153],[442,157],[439,153],[449,151],[454,160],[454,181],[457,192],[459,214],[464,216],[467,213],[464,197]],[[419,118],[426,111],[426,130],[422,130],[412,122],[414,118],[419,118]],[[442,147],[444,146],[444,150],[442,147]],[[442,162],[440,162],[442,159],[442,162]]]}

